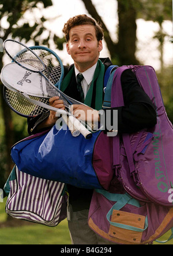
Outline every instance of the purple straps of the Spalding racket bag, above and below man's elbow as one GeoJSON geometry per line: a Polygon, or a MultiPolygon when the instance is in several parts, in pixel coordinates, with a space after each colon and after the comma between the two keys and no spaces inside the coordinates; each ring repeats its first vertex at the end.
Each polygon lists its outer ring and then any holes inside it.
{"type": "MultiPolygon", "coordinates": [[[[124,106],[123,101],[123,92],[122,92],[122,86],[121,86],[121,75],[123,71],[126,69],[130,69],[127,66],[121,66],[116,69],[114,73],[114,78],[112,81],[112,89],[111,89],[111,107],[120,107],[124,106]]],[[[120,144],[119,144],[119,136],[114,136],[112,138],[113,143],[113,166],[119,166],[120,165],[120,144]]],[[[130,136],[128,133],[123,134],[123,143],[125,146],[125,151],[127,155],[127,159],[129,162],[129,168],[130,173],[132,173],[135,170],[134,161],[133,161],[133,151],[130,144],[130,136]]]]}

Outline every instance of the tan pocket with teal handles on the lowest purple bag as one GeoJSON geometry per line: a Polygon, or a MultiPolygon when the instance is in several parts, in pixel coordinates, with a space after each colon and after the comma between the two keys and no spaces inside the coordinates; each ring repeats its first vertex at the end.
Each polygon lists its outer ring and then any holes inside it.
{"type": "Polygon", "coordinates": [[[141,243],[142,233],[148,228],[148,216],[145,213],[138,214],[141,213],[141,203],[127,193],[112,194],[105,190],[96,192],[116,202],[106,216],[110,223],[108,235],[133,244],[141,243]]]}

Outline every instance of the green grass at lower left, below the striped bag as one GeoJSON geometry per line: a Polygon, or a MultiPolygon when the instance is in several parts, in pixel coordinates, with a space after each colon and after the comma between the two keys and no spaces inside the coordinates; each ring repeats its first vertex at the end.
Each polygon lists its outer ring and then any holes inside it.
{"type": "MultiPolygon", "coordinates": [[[[0,222],[6,220],[5,202],[0,203],[0,222]]],[[[0,228],[0,244],[71,244],[67,221],[56,227],[35,224],[0,228]]]]}

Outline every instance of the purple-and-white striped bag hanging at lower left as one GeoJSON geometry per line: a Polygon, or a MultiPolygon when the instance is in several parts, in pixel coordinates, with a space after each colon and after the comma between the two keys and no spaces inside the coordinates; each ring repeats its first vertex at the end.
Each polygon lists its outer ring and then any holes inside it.
{"type": "Polygon", "coordinates": [[[15,165],[4,188],[6,213],[54,227],[66,218],[65,184],[20,172],[15,165]]]}

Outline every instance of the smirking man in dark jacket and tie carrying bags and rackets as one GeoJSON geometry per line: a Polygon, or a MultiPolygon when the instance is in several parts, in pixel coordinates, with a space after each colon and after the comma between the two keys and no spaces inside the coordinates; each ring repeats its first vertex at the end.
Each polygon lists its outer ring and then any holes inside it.
{"type": "MultiPolygon", "coordinates": [[[[87,105],[73,105],[74,116],[81,119],[86,118],[87,110],[92,107],[96,109],[95,118],[99,120],[98,110],[101,109],[104,97],[104,73],[111,65],[108,58],[99,59],[100,51],[103,49],[103,31],[92,18],[84,14],[70,18],[65,24],[63,32],[67,42],[67,53],[71,55],[74,64],[70,67],[65,66],[65,78],[61,90],[77,101],[84,101],[87,105]],[[81,81],[84,95],[81,95],[77,86],[78,73],[82,73],[84,76],[81,81]]],[[[116,108],[118,110],[118,132],[131,133],[155,125],[156,113],[152,102],[129,70],[123,72],[122,90],[125,106],[116,108]]],[[[63,101],[58,97],[52,97],[50,105],[65,109],[63,101]]],[[[41,129],[52,127],[56,121],[55,112],[48,112],[29,120],[28,131],[29,133],[36,133],[41,129]]],[[[67,185],[67,189],[69,192],[67,220],[72,243],[111,244],[88,227],[88,210],[93,191],[72,185],[67,185]]]]}

